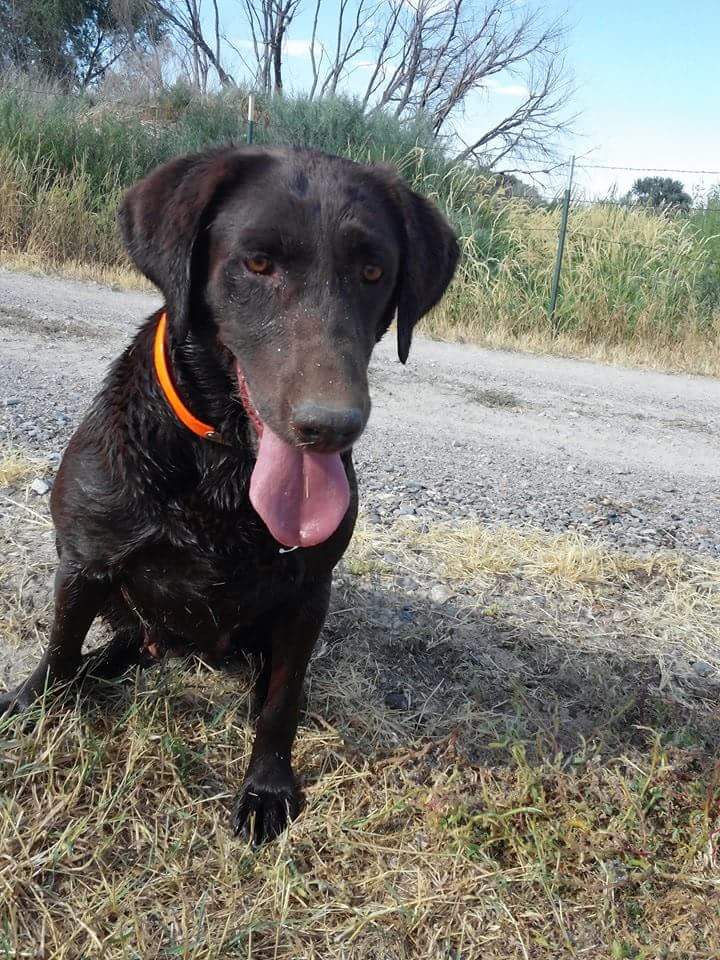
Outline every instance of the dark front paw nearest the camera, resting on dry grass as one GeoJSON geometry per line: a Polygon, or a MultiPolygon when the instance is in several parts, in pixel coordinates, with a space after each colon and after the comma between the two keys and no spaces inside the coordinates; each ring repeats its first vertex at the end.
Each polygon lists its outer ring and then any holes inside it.
{"type": "Polygon", "coordinates": [[[259,847],[281,834],[299,812],[292,771],[262,778],[249,774],[235,801],[233,832],[259,847]]]}

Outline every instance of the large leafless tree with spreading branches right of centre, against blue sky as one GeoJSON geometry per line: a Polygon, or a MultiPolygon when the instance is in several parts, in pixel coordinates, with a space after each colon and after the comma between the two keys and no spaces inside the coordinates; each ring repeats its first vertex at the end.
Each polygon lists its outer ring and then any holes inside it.
{"type": "MultiPolygon", "coordinates": [[[[252,5],[254,0],[245,0],[252,5]]],[[[340,0],[335,35],[319,42],[326,0],[314,0],[310,97],[334,95],[351,73],[368,73],[368,112],[422,116],[435,136],[451,134],[471,104],[493,90],[512,92],[501,121],[464,144],[458,158],[487,166],[549,162],[572,83],[563,57],[567,27],[515,0],[340,0]]],[[[334,2],[334,0],[331,0],[334,2]]]]}

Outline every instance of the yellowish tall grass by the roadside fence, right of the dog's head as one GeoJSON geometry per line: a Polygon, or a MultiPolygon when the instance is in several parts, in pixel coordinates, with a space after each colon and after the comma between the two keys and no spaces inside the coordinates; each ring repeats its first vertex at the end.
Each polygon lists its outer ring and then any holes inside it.
{"type": "Polygon", "coordinates": [[[647,210],[573,208],[551,323],[560,211],[468,198],[470,175],[450,177],[422,186],[447,203],[463,247],[456,281],[425,321],[433,336],[720,375],[720,308],[711,293],[717,237],[647,210]]]}

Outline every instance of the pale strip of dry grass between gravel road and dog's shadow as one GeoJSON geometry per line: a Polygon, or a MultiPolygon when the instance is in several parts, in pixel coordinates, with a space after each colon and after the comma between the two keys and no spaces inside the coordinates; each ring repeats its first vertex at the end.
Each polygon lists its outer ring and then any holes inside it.
{"type": "Polygon", "coordinates": [[[625,553],[579,533],[533,527],[468,522],[426,530],[405,521],[390,531],[361,525],[346,562],[380,580],[398,564],[455,587],[468,605],[526,622],[537,619],[541,604],[543,618],[576,647],[623,653],[630,639],[636,656],[720,664],[720,564],[709,558],[625,553]],[[579,629],[578,613],[587,621],[579,629]],[[608,619],[622,629],[606,630],[608,619]]]}

